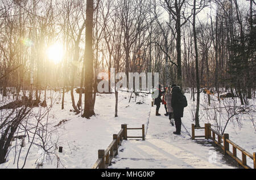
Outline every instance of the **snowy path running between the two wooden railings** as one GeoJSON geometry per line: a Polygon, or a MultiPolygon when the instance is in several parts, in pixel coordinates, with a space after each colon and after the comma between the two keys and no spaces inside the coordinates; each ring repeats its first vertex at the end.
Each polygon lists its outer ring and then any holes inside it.
{"type": "Polygon", "coordinates": [[[161,116],[156,117],[152,107],[146,140],[124,140],[109,168],[233,168],[225,164],[223,155],[214,147],[191,141],[184,127],[181,136],[174,135],[175,127],[164,113],[161,106],[161,116]]]}

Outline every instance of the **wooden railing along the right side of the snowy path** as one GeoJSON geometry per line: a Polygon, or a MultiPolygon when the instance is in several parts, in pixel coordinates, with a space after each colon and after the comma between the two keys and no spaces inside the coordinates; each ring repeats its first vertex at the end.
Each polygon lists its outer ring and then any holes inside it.
{"type": "Polygon", "coordinates": [[[251,169],[250,166],[247,165],[246,158],[249,157],[253,160],[254,163],[254,169],[256,169],[256,153],[254,152],[253,155],[251,153],[247,152],[245,149],[241,148],[236,143],[232,142],[232,140],[229,139],[229,134],[223,134],[221,135],[217,131],[215,131],[213,128],[211,128],[210,123],[206,123],[205,127],[195,127],[194,124],[192,124],[192,140],[195,140],[196,138],[205,138],[205,139],[212,139],[215,144],[217,144],[219,147],[222,148],[224,155],[229,155],[234,160],[236,160],[243,168],[251,169]],[[195,136],[195,130],[196,129],[204,129],[205,135],[204,136],[195,136]],[[216,140],[217,138],[217,140],[216,140]],[[223,143],[223,145],[221,144],[223,143]],[[229,144],[232,145],[233,151],[229,151],[229,144]],[[237,157],[237,149],[241,151],[242,153],[242,159],[237,157]]]}

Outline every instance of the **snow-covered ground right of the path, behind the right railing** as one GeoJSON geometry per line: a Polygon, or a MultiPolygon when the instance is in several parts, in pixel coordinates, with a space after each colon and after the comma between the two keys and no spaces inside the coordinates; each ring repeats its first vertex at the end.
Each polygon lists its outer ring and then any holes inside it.
{"type": "MultiPolygon", "coordinates": [[[[187,128],[187,130],[189,131],[189,134],[191,134],[191,124],[195,123],[195,121],[193,121],[192,118],[192,113],[193,110],[195,112],[196,109],[196,101],[193,102],[191,100],[191,95],[186,93],[185,94],[188,100],[188,107],[184,109],[184,118],[183,118],[183,125],[185,126],[185,128],[187,128]]],[[[216,125],[216,121],[214,121],[213,119],[207,119],[207,114],[205,112],[205,108],[212,108],[213,105],[213,100],[217,101],[217,95],[210,95],[211,106],[207,106],[207,95],[205,95],[204,93],[200,94],[200,126],[204,127],[205,123],[211,123],[212,124],[212,128],[214,128],[215,130],[217,130],[217,128],[215,126],[216,125]]],[[[195,95],[196,98],[196,95],[195,95]]],[[[238,100],[238,98],[235,98],[234,100],[232,98],[224,98],[224,100],[221,100],[221,106],[232,106],[234,105],[234,102],[236,102],[236,106],[240,106],[240,101],[238,100]]],[[[254,127],[254,123],[256,122],[256,113],[255,113],[255,100],[249,100],[249,105],[247,106],[241,106],[243,108],[249,107],[250,109],[247,109],[246,112],[239,114],[239,119],[238,118],[234,118],[232,120],[229,121],[228,125],[226,126],[226,130],[224,133],[229,134],[229,139],[232,140],[234,143],[236,143],[237,145],[239,145],[240,147],[242,147],[243,149],[245,149],[246,151],[250,152],[251,154],[253,154],[254,152],[256,152],[256,130],[254,127]],[[252,106],[251,106],[252,105],[252,106]],[[254,122],[253,122],[253,121],[254,122]]],[[[218,108],[218,105],[217,105],[218,108]]],[[[219,109],[218,109],[219,110],[219,109]]],[[[217,111],[218,112],[218,111],[217,111]]],[[[220,118],[220,114],[219,112],[216,114],[217,115],[217,119],[218,119],[218,126],[225,126],[225,122],[227,119],[227,114],[225,109],[221,109],[221,118],[220,118]],[[221,120],[220,120],[221,119],[221,120]]],[[[195,130],[195,134],[196,135],[204,135],[204,130],[195,130]]],[[[223,145],[223,143],[222,143],[223,145]]],[[[232,145],[230,145],[229,147],[230,151],[232,151],[232,145]]],[[[241,152],[239,150],[237,150],[237,156],[242,159],[242,155],[241,152]]],[[[247,157],[247,165],[249,165],[250,167],[253,167],[253,160],[251,160],[249,157],[247,157]]]]}

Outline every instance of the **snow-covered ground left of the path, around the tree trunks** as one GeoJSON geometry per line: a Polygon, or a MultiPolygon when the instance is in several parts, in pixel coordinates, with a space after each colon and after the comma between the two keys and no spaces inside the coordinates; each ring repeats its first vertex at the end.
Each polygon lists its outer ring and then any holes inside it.
{"type": "MultiPolygon", "coordinates": [[[[76,100],[79,95],[75,93],[76,100]]],[[[114,117],[115,96],[97,95],[95,117],[90,119],[82,118],[70,112],[72,108],[70,92],[65,93],[64,110],[61,110],[61,97],[57,97],[57,103],[53,106],[49,115],[49,126],[52,128],[51,144],[53,148],[62,146],[63,153],[55,149],[56,155],[45,156],[42,148],[32,145],[28,154],[24,168],[36,168],[39,161],[43,160],[40,168],[92,168],[97,160],[98,149],[106,149],[113,140],[113,134],[121,130],[121,125],[126,123],[128,127],[141,127],[147,123],[148,113],[150,113],[151,100],[148,96],[131,98],[130,93],[122,92],[118,99],[118,117],[114,117]],[[56,126],[63,119],[68,121],[56,126]]],[[[49,99],[47,100],[49,102],[49,99]]],[[[48,103],[49,104],[49,103],[48,103]]],[[[34,112],[39,108],[34,108],[34,112]]],[[[50,127],[49,127],[50,128],[50,127]]],[[[136,133],[136,132],[135,132],[136,133]]],[[[134,134],[135,136],[137,134],[134,134]]],[[[140,133],[141,135],[141,133],[140,133]]],[[[20,146],[17,146],[16,152],[20,146]]],[[[24,157],[29,148],[28,139],[25,140],[25,147],[22,148],[19,167],[23,165],[24,157]]],[[[15,159],[15,149],[12,148],[8,161],[1,164],[0,168],[17,168],[15,159]]]]}

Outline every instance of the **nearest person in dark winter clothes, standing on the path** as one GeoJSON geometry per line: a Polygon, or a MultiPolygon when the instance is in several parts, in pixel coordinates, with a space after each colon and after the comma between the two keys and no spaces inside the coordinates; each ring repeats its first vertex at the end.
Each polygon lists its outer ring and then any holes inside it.
{"type": "Polygon", "coordinates": [[[174,121],[176,126],[176,131],[174,134],[180,135],[181,131],[181,118],[183,117],[184,108],[179,104],[179,99],[182,96],[180,87],[175,84],[172,85],[172,109],[174,111],[174,121]]]}

